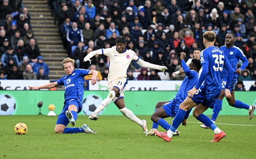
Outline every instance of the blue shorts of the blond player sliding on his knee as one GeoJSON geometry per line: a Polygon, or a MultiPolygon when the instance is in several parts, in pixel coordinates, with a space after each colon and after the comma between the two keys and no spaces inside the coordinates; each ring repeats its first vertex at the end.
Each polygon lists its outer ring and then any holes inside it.
{"type": "Polygon", "coordinates": [[[56,122],[56,125],[57,124],[62,124],[64,126],[67,126],[68,123],[69,123],[69,120],[68,118],[66,117],[66,110],[68,110],[68,106],[74,104],[77,108],[77,113],[81,112],[83,106],[82,106],[82,103],[81,102],[78,102],[77,99],[69,99],[69,100],[66,100],[64,102],[64,106],[63,106],[63,109],[62,109],[62,112],[60,113],[60,115],[58,116],[58,120],[56,122]]]}

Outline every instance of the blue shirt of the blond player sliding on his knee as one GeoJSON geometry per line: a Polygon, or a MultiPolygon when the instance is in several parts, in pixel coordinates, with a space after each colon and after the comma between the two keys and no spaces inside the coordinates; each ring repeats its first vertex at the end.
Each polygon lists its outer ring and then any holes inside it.
{"type": "Polygon", "coordinates": [[[77,99],[82,102],[84,98],[84,76],[88,75],[90,70],[75,69],[71,75],[65,75],[57,81],[61,86],[65,86],[65,101],[68,99],[77,99]]]}

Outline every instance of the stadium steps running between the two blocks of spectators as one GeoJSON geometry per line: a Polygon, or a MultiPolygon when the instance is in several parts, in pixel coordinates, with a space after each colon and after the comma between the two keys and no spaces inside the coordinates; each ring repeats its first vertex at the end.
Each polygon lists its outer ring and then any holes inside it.
{"type": "Polygon", "coordinates": [[[58,80],[65,75],[61,61],[66,57],[67,51],[63,48],[48,2],[46,0],[23,0],[23,3],[30,13],[31,26],[41,55],[50,68],[49,78],[58,80]]]}

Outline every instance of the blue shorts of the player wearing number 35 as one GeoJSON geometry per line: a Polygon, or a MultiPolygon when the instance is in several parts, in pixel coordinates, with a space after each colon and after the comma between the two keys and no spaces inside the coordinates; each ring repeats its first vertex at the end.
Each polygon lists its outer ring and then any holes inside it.
{"type": "Polygon", "coordinates": [[[194,94],[193,98],[191,98],[197,105],[202,104],[208,108],[213,109],[215,105],[215,101],[219,98],[220,92],[209,92],[205,90],[198,90],[196,94],[194,94]]]}

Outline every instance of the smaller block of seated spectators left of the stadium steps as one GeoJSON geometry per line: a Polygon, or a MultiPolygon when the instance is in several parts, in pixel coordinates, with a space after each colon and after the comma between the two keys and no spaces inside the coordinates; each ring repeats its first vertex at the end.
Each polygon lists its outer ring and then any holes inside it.
{"type": "Polygon", "coordinates": [[[48,79],[22,0],[0,0],[0,79],[48,79]]]}

